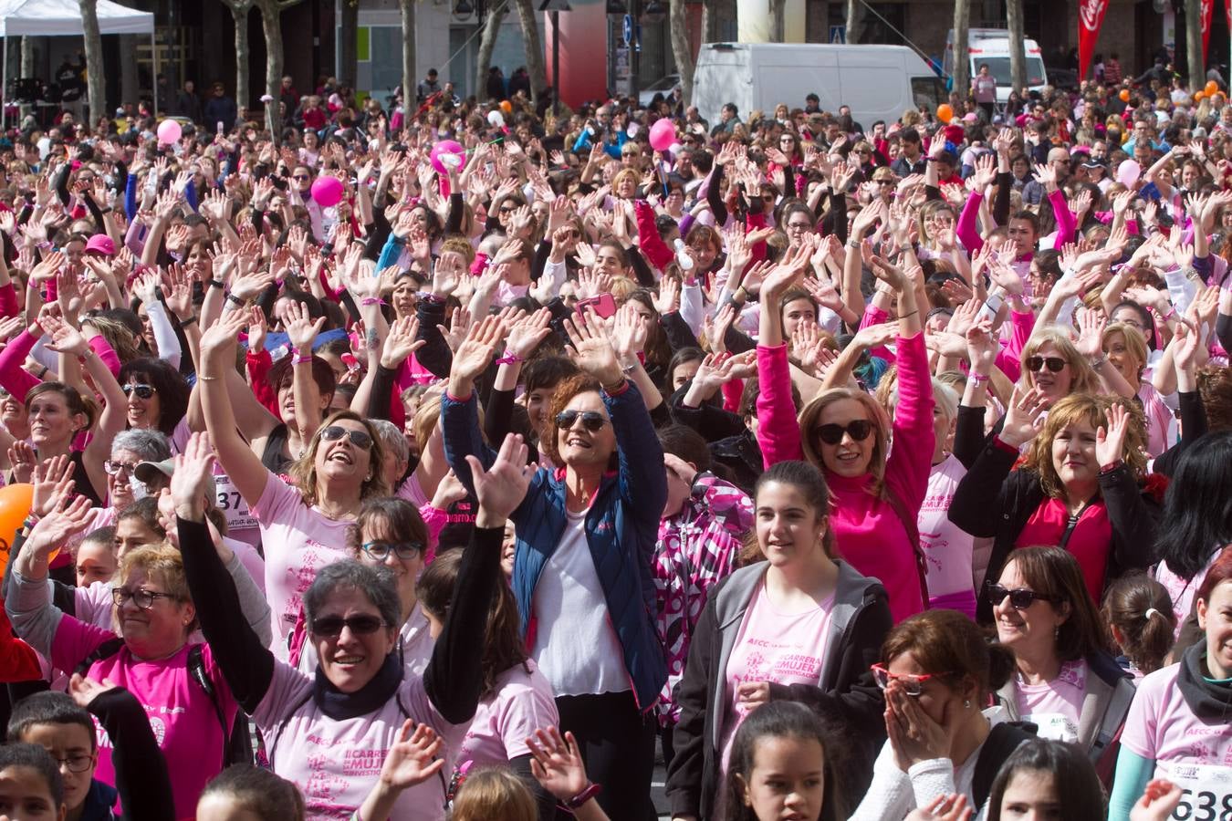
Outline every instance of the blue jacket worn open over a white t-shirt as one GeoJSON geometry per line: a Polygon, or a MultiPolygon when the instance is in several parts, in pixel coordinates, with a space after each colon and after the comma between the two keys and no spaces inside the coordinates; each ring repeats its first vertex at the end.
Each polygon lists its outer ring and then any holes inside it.
{"type": "MultiPolygon", "coordinates": [[[[657,607],[650,574],[659,516],[668,501],[668,480],[663,448],[637,388],[628,383],[615,396],[604,393],[602,400],[616,433],[620,467],[604,478],[586,513],[586,543],[607,599],[607,614],[625,652],[633,698],[646,711],[654,705],[668,678],[663,645],[654,629],[657,607]]],[[[474,394],[464,401],[448,394],[441,400],[445,457],[472,492],[466,457],[478,457],[488,467],[496,455],[483,442],[477,401],[474,394]]],[[[540,469],[513,521],[517,531],[514,596],[522,635],[527,636],[533,630],[535,586],[543,565],[561,544],[567,524],[563,471],[540,469]]]]}

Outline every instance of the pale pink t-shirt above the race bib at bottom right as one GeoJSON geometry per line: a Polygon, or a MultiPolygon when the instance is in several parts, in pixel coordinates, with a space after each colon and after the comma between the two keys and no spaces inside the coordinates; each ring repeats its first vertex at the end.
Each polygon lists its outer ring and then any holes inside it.
{"type": "Polygon", "coordinates": [[[1157,670],[1138,683],[1121,743],[1161,764],[1232,766],[1232,724],[1207,724],[1189,709],[1177,686],[1180,663],[1157,670]]]}

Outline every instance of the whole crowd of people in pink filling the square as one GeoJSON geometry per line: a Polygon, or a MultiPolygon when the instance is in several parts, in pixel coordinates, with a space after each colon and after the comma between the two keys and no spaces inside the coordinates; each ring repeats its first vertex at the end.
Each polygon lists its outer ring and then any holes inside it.
{"type": "Polygon", "coordinates": [[[0,143],[0,815],[1232,814],[1225,90],[416,96],[0,143]]]}

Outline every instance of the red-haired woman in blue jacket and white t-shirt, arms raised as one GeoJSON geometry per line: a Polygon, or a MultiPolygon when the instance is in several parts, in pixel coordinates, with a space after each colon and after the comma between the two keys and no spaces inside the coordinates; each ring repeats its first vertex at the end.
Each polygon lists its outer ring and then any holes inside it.
{"type": "MultiPolygon", "coordinates": [[[[557,386],[540,442],[561,467],[535,474],[513,516],[513,587],[561,725],[604,787],[599,803],[612,817],[641,819],[652,812],[653,705],[667,681],[650,575],[667,475],[642,395],[626,380],[602,320],[594,311],[584,319],[565,320],[582,373],[557,386]]],[[[495,316],[471,329],[442,399],[445,453],[468,486],[469,457],[492,460],[474,382],[503,331],[495,316]]]]}

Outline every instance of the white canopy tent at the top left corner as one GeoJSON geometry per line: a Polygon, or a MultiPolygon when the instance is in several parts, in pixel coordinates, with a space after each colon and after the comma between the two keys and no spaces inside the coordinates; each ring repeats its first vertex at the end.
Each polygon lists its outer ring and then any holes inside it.
{"type": "MultiPolygon", "coordinates": [[[[154,42],[154,15],[122,6],[112,0],[97,0],[99,32],[102,34],[150,36],[154,74],[158,75],[158,46],[154,42]]],[[[0,0],[0,37],[4,38],[4,71],[0,78],[0,102],[9,92],[9,37],[81,37],[81,6],[78,0],[0,0]]],[[[0,112],[5,108],[0,107],[0,112]]],[[[154,84],[154,111],[158,112],[158,82],[154,84]]],[[[2,119],[0,119],[2,123],[2,119]]]]}

